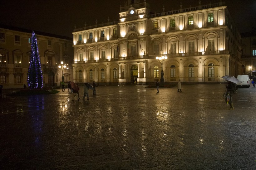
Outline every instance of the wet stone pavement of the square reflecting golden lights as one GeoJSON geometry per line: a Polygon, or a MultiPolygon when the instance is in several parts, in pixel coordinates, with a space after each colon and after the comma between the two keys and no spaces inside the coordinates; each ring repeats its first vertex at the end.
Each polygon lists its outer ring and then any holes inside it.
{"type": "MultiPolygon", "coordinates": [[[[0,99],[0,169],[255,170],[256,88],[99,86],[0,99]]],[[[4,92],[4,91],[3,91],[4,92]]]]}

